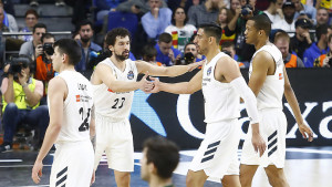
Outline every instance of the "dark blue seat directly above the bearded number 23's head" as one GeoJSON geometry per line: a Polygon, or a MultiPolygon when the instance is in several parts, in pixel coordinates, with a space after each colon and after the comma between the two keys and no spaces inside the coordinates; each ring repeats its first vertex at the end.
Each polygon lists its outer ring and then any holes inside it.
{"type": "Polygon", "coordinates": [[[126,13],[126,12],[110,12],[108,13],[108,23],[107,23],[107,31],[114,28],[126,28],[132,37],[134,37],[137,30],[138,19],[137,15],[134,13],[126,13]]]}

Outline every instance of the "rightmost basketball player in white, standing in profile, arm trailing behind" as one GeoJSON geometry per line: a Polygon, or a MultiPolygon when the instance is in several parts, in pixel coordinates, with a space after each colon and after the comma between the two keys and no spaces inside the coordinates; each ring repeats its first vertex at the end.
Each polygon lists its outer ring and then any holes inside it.
{"type": "Polygon", "coordinates": [[[269,42],[271,23],[268,17],[256,15],[247,21],[246,42],[253,44],[256,53],[249,69],[249,86],[257,96],[260,133],[268,144],[267,152],[259,157],[250,144],[249,129],[242,148],[240,180],[242,187],[251,186],[258,166],[264,167],[271,186],[289,186],[283,173],[286,155],[287,121],[282,112],[284,94],[303,137],[312,141],[312,131],[304,124],[299,104],[290,85],[279,49],[269,42]]]}

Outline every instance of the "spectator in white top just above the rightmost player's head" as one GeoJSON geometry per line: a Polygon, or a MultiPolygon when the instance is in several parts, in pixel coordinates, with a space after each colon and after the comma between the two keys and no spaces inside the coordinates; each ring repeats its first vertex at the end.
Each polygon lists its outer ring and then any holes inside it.
{"type": "Polygon", "coordinates": [[[282,3],[283,0],[269,0],[270,4],[267,10],[263,12],[269,17],[270,21],[272,22],[271,27],[273,28],[273,24],[281,21],[283,19],[282,13],[282,3]]]}

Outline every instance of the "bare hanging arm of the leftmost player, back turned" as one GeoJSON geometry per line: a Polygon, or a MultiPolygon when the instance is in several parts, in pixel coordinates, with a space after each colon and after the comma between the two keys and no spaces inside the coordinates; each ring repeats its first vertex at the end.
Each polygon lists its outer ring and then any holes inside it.
{"type": "Polygon", "coordinates": [[[38,154],[32,168],[31,178],[35,184],[40,183],[42,176],[42,160],[55,143],[61,131],[63,117],[63,101],[66,98],[68,87],[63,79],[54,77],[49,84],[50,124],[46,129],[42,147],[38,154]]]}

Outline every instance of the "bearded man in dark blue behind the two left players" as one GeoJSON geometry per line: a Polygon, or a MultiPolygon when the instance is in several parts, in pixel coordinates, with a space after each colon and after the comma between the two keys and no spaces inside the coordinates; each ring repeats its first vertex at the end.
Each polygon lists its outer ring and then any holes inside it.
{"type": "Polygon", "coordinates": [[[76,40],[82,49],[82,59],[75,65],[76,71],[87,70],[90,61],[97,56],[97,52],[102,51],[102,48],[92,42],[93,39],[93,27],[89,20],[83,20],[77,24],[76,30],[80,33],[80,40],[76,40]]]}

